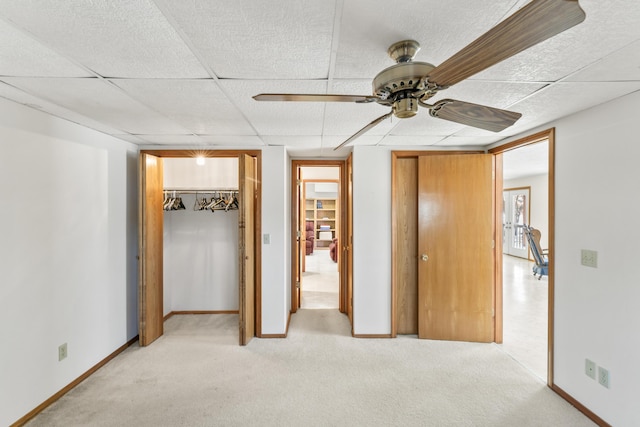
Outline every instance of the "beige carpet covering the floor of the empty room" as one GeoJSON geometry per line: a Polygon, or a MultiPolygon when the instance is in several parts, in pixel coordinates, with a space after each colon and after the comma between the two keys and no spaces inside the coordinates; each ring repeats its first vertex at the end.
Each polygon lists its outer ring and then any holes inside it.
{"type": "Polygon", "coordinates": [[[235,315],[174,316],[29,425],[594,425],[494,344],[355,339],[337,310],[237,341],[235,315]]]}

